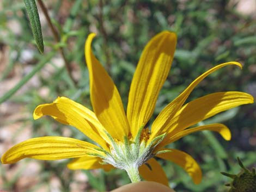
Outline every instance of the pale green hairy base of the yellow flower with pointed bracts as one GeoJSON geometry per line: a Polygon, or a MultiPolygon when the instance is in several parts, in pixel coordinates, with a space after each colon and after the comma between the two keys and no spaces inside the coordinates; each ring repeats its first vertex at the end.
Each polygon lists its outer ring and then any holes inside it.
{"type": "MultiPolygon", "coordinates": [[[[109,146],[110,151],[97,148],[97,150],[105,153],[105,156],[91,153],[92,156],[97,156],[102,159],[103,164],[111,164],[115,168],[125,170],[132,182],[140,181],[138,175],[139,166],[147,164],[148,160],[154,157],[156,154],[167,152],[170,150],[162,150],[154,153],[157,145],[161,143],[166,134],[159,135],[147,144],[149,138],[148,128],[144,129],[142,126],[139,129],[135,139],[124,137],[124,142],[115,140],[112,136],[106,132],[111,145],[109,146]]],[[[150,168],[151,169],[151,168],[150,168]]]]}

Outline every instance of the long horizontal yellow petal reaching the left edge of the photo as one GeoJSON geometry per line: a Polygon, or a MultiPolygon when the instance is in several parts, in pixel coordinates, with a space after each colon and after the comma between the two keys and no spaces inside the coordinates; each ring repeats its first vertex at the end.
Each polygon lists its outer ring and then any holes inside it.
{"type": "Polygon", "coordinates": [[[41,160],[57,160],[83,157],[93,154],[103,155],[95,150],[96,145],[65,137],[40,137],[23,141],[11,147],[1,158],[2,163],[15,163],[29,157],[41,160]]]}

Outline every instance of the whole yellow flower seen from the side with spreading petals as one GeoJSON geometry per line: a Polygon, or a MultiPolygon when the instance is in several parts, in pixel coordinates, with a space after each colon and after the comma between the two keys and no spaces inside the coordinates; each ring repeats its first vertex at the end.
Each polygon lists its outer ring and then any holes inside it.
{"type": "Polygon", "coordinates": [[[36,107],[34,119],[50,115],[59,122],[76,127],[98,145],[65,137],[33,138],[10,148],[2,156],[2,163],[15,163],[26,157],[42,160],[76,158],[68,164],[70,169],[119,168],[126,170],[132,182],[140,181],[140,174],[146,180],[168,185],[161,165],[154,158],[159,157],[178,164],[194,183],[199,183],[202,172],[197,162],[185,152],[164,146],[203,130],[218,132],[225,140],[230,140],[229,129],[220,123],[190,127],[224,110],[253,103],[251,95],[235,91],[216,92],[184,103],[206,76],[227,65],[241,68],[241,64],[220,64],[200,75],[162,110],[149,132],[145,126],[168,76],[176,35],[164,31],[145,46],[132,79],[126,114],[116,86],[92,52],[94,36],[88,36],[85,46],[94,112],[69,98],[58,97],[53,103],[36,107]]]}

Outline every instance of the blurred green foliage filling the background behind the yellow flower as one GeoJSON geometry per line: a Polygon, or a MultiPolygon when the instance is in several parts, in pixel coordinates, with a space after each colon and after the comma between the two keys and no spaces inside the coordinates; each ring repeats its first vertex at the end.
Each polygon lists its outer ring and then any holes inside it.
{"type": "MultiPolygon", "coordinates": [[[[51,15],[52,22],[60,35],[60,42],[55,43],[53,35],[44,16],[40,13],[45,53],[41,55],[29,26],[25,5],[22,1],[3,0],[0,11],[0,46],[8,47],[8,64],[1,73],[1,82],[10,78],[16,66],[21,70],[32,66],[33,73],[25,73],[21,86],[35,74],[39,78],[36,87],[31,87],[22,95],[8,97],[6,102],[20,103],[26,106],[27,112],[33,112],[38,104],[52,102],[57,96],[66,96],[90,108],[89,78],[84,63],[84,41],[90,32],[97,33],[93,47],[96,57],[105,65],[106,70],[117,85],[124,106],[127,103],[129,84],[135,71],[139,55],[148,40],[162,30],[171,30],[178,35],[175,58],[168,79],[164,84],[154,117],[178,94],[210,67],[227,61],[239,61],[243,70],[229,66],[206,78],[196,88],[188,100],[217,91],[245,91],[256,95],[256,36],[255,15],[242,15],[236,10],[235,1],[44,1],[51,15]],[[19,32],[10,27],[15,21],[19,32]],[[62,47],[65,57],[72,68],[72,76],[77,80],[75,85],[64,66],[59,66],[58,47],[62,47]],[[31,59],[23,59],[24,50],[32,51],[31,59]],[[46,59],[50,57],[50,62],[46,59]],[[54,60],[55,58],[55,60],[54,60]],[[38,67],[40,65],[40,67],[38,67]],[[50,75],[45,76],[45,66],[51,66],[50,75]],[[38,72],[38,73],[36,73],[38,72]],[[29,77],[27,77],[27,76],[29,77]],[[47,88],[46,96],[40,95],[40,89],[47,88]]],[[[16,86],[13,92],[19,90],[16,86]]],[[[4,95],[2,93],[1,95],[4,95]]],[[[0,98],[2,100],[3,97],[0,98]]],[[[184,139],[171,144],[191,154],[203,170],[203,182],[194,185],[191,178],[178,166],[170,162],[162,162],[164,170],[176,191],[227,191],[224,183],[227,179],[220,171],[237,172],[239,156],[245,166],[255,166],[256,112],[255,104],[242,106],[217,115],[202,123],[223,122],[230,127],[233,139],[224,141],[210,132],[188,135],[184,139]]],[[[33,122],[33,137],[44,135],[63,135],[63,125],[50,118],[34,121],[32,115],[22,119],[24,126],[33,122]]],[[[3,122],[8,125],[13,122],[3,122]]],[[[85,140],[83,134],[71,128],[70,137],[85,140]]],[[[22,127],[16,134],[22,133],[22,127]]],[[[14,135],[15,139],[15,135],[14,135]]],[[[70,183],[74,180],[72,171],[65,168],[68,160],[62,162],[41,162],[41,181],[26,191],[36,191],[41,183],[47,183],[53,173],[61,181],[61,190],[70,191],[70,183]]],[[[1,176],[5,181],[4,189],[14,189],[19,178],[4,178],[8,171],[0,165],[1,176]]],[[[20,170],[22,172],[22,170],[20,170]]],[[[119,185],[129,183],[125,172],[84,171],[88,176],[89,186],[98,191],[111,190],[119,185]]],[[[50,191],[50,190],[49,190],[50,191]]]]}

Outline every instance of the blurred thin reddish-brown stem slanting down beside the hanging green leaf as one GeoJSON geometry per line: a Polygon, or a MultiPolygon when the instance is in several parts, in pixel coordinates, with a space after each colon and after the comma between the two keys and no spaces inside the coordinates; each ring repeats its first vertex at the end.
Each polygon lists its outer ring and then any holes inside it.
{"type": "MultiPolygon", "coordinates": [[[[44,3],[43,3],[41,0],[38,0],[38,3],[39,3],[39,5],[40,5],[40,7],[41,7],[41,9],[42,9],[42,13],[44,13],[44,15],[45,15],[45,17],[46,17],[46,20],[47,20],[48,25],[49,25],[50,28],[51,28],[51,31],[52,31],[52,34],[53,34],[53,37],[54,37],[55,41],[56,41],[56,42],[59,42],[59,35],[58,35],[58,32],[57,32],[57,30],[54,28],[54,26],[53,26],[53,24],[52,24],[51,18],[50,18],[50,16],[48,15],[48,11],[47,11],[47,9],[46,9],[44,3]]],[[[59,47],[59,51],[60,51],[60,54],[62,55],[62,58],[63,58],[63,60],[64,60],[64,64],[65,64],[66,70],[68,71],[68,75],[69,75],[69,77],[72,79],[72,82],[76,85],[77,82],[76,82],[76,80],[74,79],[74,77],[72,76],[72,73],[71,73],[72,69],[71,69],[71,67],[70,67],[70,65],[69,65],[68,60],[67,60],[66,57],[65,57],[63,48],[62,48],[62,47],[59,47]]]]}

